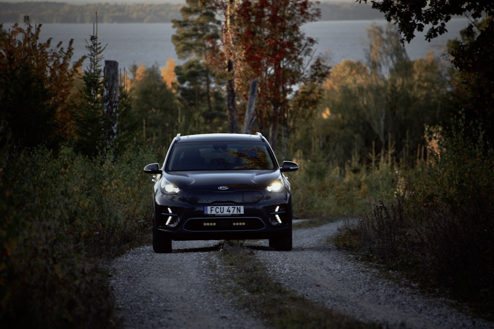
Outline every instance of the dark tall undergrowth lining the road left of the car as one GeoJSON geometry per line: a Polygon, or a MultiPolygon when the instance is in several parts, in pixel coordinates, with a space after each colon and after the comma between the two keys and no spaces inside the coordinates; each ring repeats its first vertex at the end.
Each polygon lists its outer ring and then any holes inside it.
{"type": "MultiPolygon", "coordinates": [[[[146,151],[88,158],[63,147],[11,152],[0,176],[0,321],[112,328],[101,262],[147,238],[146,151]]],[[[8,327],[8,326],[7,326],[8,327]]]]}

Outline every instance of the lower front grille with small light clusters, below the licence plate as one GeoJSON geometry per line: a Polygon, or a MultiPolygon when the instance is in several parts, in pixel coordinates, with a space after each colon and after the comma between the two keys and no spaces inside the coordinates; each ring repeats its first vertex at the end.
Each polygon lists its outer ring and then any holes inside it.
{"type": "Polygon", "coordinates": [[[184,224],[187,231],[255,231],[266,225],[259,218],[195,218],[184,224]]]}

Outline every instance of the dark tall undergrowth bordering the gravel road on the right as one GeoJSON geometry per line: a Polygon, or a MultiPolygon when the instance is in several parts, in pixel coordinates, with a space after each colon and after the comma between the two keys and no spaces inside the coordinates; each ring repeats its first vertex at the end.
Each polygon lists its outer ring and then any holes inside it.
{"type": "Polygon", "coordinates": [[[448,140],[338,243],[494,317],[494,152],[480,145],[448,140]]]}

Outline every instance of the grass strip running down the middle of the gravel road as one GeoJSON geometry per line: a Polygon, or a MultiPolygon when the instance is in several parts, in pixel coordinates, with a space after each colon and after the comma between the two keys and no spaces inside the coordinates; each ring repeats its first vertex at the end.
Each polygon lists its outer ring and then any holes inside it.
{"type": "Polygon", "coordinates": [[[231,281],[222,287],[222,292],[234,298],[241,308],[259,315],[271,328],[380,328],[338,314],[286,289],[241,241],[225,242],[218,255],[221,271],[227,272],[219,276],[228,276],[231,281]]]}

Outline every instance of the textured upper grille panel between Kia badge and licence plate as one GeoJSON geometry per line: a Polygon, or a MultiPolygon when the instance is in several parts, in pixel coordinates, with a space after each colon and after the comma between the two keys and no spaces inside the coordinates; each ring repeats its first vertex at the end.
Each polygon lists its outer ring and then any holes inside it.
{"type": "Polygon", "coordinates": [[[210,204],[214,202],[255,203],[262,199],[260,191],[235,191],[235,192],[187,192],[184,198],[191,204],[210,204]]]}

